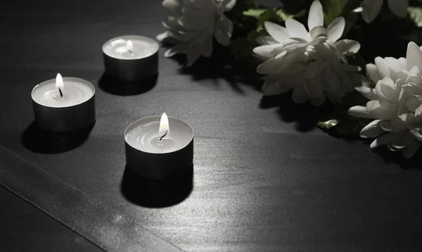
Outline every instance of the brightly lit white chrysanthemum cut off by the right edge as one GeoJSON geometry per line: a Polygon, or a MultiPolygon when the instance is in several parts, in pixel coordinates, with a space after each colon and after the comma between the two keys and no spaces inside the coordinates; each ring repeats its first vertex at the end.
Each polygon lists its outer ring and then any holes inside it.
{"type": "Polygon", "coordinates": [[[369,101],[354,106],[349,114],[374,119],[361,137],[377,137],[371,148],[386,144],[391,151],[402,151],[411,158],[422,141],[422,51],[414,43],[407,47],[407,58],[377,57],[366,65],[375,88],[358,87],[369,101]]]}

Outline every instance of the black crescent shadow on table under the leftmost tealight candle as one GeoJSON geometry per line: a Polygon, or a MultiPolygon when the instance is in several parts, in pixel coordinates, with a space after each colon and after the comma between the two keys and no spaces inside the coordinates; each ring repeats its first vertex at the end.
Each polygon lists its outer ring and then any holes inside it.
{"type": "Polygon", "coordinates": [[[37,153],[63,153],[83,144],[94,124],[80,132],[62,134],[41,130],[37,123],[32,122],[23,132],[20,141],[26,149],[37,153]]]}

